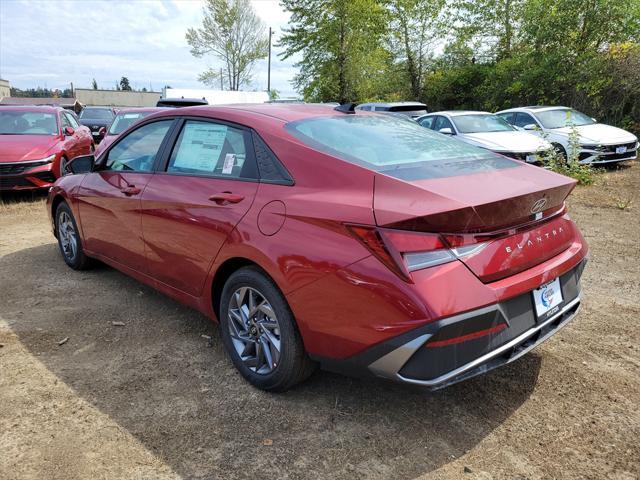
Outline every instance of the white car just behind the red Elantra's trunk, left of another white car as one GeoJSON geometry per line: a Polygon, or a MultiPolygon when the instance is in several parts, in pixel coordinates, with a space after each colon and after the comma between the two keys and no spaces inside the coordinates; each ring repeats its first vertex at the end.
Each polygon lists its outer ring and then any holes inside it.
{"type": "Polygon", "coordinates": [[[447,111],[423,115],[420,125],[463,142],[527,163],[539,163],[540,154],[553,148],[542,138],[521,132],[489,112],[447,111]]]}

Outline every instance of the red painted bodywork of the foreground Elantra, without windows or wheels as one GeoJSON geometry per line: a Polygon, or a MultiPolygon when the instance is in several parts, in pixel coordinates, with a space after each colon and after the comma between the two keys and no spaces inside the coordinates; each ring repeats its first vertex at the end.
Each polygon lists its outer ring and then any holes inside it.
{"type": "MultiPolygon", "coordinates": [[[[286,296],[308,353],[331,359],[529,292],[586,256],[587,245],[566,215],[533,221],[529,211],[541,197],[548,207],[558,207],[549,212],[561,209],[575,185],[572,180],[526,164],[492,174],[398,180],[306,146],[284,128],[287,122],[321,115],[336,112],[325,106],[254,105],[156,113],[138,125],[198,117],[252,129],[294,184],[164,171],[93,172],[59,180],[49,194],[49,213],[65,199],[90,256],[212,319],[222,288],[220,272],[228,265],[258,265],[286,296]],[[140,191],[127,194],[130,186],[140,191]],[[241,200],[210,200],[225,192],[241,200]],[[372,255],[347,225],[445,239],[505,228],[507,233],[463,261],[403,278],[372,255]],[[546,232],[560,227],[561,236],[538,245],[539,236],[546,238],[546,232]],[[529,239],[535,240],[530,248],[506,251],[529,239]]],[[[414,245],[412,239],[401,243],[414,245]]]]}

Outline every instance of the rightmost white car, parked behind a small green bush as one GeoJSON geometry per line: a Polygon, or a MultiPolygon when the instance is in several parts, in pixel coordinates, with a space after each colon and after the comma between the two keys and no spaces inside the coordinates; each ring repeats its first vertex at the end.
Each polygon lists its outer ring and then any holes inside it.
{"type": "Polygon", "coordinates": [[[638,138],[622,130],[598,123],[595,119],[568,107],[520,107],[502,110],[496,115],[515,127],[546,138],[565,157],[573,154],[570,139],[572,125],[578,133],[578,161],[605,164],[634,160],[638,138]]]}

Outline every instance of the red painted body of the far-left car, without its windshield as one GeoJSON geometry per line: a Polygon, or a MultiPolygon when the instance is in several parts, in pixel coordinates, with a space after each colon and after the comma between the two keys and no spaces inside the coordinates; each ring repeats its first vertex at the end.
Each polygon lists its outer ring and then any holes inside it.
{"type": "Polygon", "coordinates": [[[0,190],[49,188],[60,177],[61,162],[91,151],[91,133],[77,122],[72,112],[45,106],[2,107],[0,115],[2,112],[52,114],[57,126],[56,133],[51,135],[0,135],[0,190]]]}

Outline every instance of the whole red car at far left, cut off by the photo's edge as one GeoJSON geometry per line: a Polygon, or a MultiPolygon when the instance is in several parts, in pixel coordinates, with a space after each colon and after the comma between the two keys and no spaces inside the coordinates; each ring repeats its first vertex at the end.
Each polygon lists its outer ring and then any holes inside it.
{"type": "Polygon", "coordinates": [[[0,191],[49,188],[69,160],[93,151],[91,132],[59,107],[0,107],[0,191]]]}

